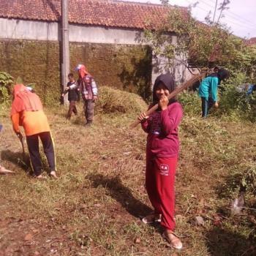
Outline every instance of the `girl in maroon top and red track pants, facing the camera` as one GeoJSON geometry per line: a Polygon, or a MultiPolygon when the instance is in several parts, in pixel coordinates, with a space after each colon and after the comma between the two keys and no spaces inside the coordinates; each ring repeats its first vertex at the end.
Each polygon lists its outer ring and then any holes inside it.
{"type": "MultiPolygon", "coordinates": [[[[175,89],[170,74],[159,75],[153,88],[153,105],[159,105],[150,116],[141,113],[138,119],[148,133],[146,146],[146,191],[154,213],[143,218],[144,223],[161,222],[163,236],[176,249],[181,249],[175,228],[175,172],[178,162],[178,124],[182,117],[181,105],[176,99],[167,99],[175,89]]],[[[150,107],[151,108],[151,107],[150,107]]]]}

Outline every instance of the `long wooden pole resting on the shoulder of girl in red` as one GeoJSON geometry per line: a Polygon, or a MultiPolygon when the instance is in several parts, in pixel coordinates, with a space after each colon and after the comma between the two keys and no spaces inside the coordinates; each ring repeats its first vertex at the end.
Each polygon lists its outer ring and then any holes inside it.
{"type": "MultiPolygon", "coordinates": [[[[189,88],[190,86],[193,85],[193,83],[197,82],[198,80],[200,80],[202,78],[203,78],[203,74],[198,74],[198,75],[192,76],[192,78],[187,80],[187,82],[183,83],[181,86],[176,87],[176,89],[168,95],[168,99],[176,97],[176,95],[179,94],[181,91],[184,91],[184,89],[189,88]]],[[[158,103],[146,111],[146,116],[149,116],[149,115],[151,115],[151,113],[154,113],[154,111],[156,111],[157,108],[158,108],[158,103]]],[[[137,127],[138,124],[140,124],[140,120],[134,121],[132,124],[130,124],[129,127],[135,128],[135,127],[137,127]]]]}

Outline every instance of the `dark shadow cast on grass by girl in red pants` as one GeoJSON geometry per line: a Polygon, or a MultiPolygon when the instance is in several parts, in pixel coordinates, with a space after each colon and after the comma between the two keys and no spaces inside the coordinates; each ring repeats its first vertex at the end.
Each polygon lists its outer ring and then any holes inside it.
{"type": "Polygon", "coordinates": [[[116,176],[110,178],[108,176],[103,176],[102,174],[97,174],[87,176],[86,178],[93,181],[93,187],[97,188],[102,186],[108,189],[108,192],[110,193],[109,195],[118,201],[118,203],[121,203],[121,206],[123,206],[129,214],[132,214],[135,217],[141,217],[152,211],[151,208],[146,206],[146,204],[141,203],[140,200],[132,195],[131,190],[122,184],[120,177],[116,176]]]}

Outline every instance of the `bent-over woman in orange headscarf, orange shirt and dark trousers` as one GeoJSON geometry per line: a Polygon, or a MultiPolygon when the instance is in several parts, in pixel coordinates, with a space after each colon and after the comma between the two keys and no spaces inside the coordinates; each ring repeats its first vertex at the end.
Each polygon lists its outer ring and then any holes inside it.
{"type": "Polygon", "coordinates": [[[34,175],[37,178],[43,178],[42,162],[39,154],[38,138],[40,138],[45,156],[48,159],[49,174],[57,178],[53,139],[50,135],[48,119],[42,110],[42,103],[37,94],[31,92],[23,84],[14,86],[11,118],[12,127],[19,138],[22,138],[19,126],[24,129],[34,175]]]}

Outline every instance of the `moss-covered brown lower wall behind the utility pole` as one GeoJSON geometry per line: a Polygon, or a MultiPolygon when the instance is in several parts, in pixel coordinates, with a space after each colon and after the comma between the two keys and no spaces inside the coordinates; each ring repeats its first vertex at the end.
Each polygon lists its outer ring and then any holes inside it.
{"type": "MultiPolygon", "coordinates": [[[[86,64],[99,86],[111,86],[150,96],[151,49],[140,45],[69,44],[70,71],[86,64]]],[[[59,102],[61,94],[59,42],[0,40],[0,71],[23,83],[35,84],[45,104],[59,102]]],[[[75,72],[74,72],[75,73],[75,72]]],[[[76,74],[75,74],[76,75],[76,74]]]]}

